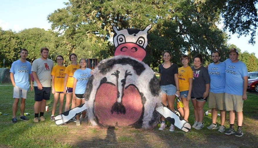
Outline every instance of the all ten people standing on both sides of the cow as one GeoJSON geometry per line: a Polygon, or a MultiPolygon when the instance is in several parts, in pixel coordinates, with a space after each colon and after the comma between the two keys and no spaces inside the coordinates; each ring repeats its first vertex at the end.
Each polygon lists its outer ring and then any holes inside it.
{"type": "MultiPolygon", "coordinates": [[[[91,75],[91,69],[87,68],[86,60],[81,58],[77,63],[77,55],[70,54],[69,59],[72,62],[65,67],[63,65],[63,56],[56,57],[57,65],[54,66],[53,60],[48,59],[48,48],[41,48],[41,58],[30,62],[26,61],[28,51],[22,49],[21,58],[15,61],[10,70],[11,82],[14,86],[14,104],[12,122],[16,123],[16,112],[18,110],[18,102],[21,98],[21,120],[28,121],[24,116],[25,99],[31,85],[31,73],[34,78],[35,118],[33,122],[44,121],[44,111],[46,101],[50,99],[51,77],[52,77],[52,94],[54,102],[52,106],[52,115],[50,120],[54,121],[56,106],[60,97],[59,113],[63,112],[63,101],[66,95],[66,103],[64,111],[79,106],[84,103],[84,92],[87,82],[91,75]]],[[[162,90],[162,103],[168,105],[173,112],[174,101],[176,96],[183,102],[184,107],[177,105],[178,111],[184,120],[188,121],[189,117],[189,101],[191,100],[194,107],[195,122],[193,128],[202,129],[205,102],[209,102],[208,106],[212,109],[212,124],[208,129],[218,129],[218,132],[225,131],[226,111],[229,111],[230,129],[225,134],[235,134],[241,137],[242,121],[243,121],[243,100],[247,99],[247,68],[244,63],[238,60],[238,51],[235,48],[230,49],[229,59],[220,62],[220,53],[215,51],[212,53],[213,63],[208,65],[208,69],[202,65],[203,58],[201,55],[193,57],[193,66],[189,66],[190,58],[188,55],[181,57],[182,67],[178,68],[175,63],[171,62],[171,52],[162,53],[164,63],[158,66],[160,73],[159,82],[162,90]],[[209,100],[208,100],[209,98],[209,100]],[[217,111],[220,110],[220,126],[217,127],[217,111]],[[237,114],[237,132],[234,130],[235,112],[237,114]]],[[[85,112],[82,114],[85,117],[85,112]]],[[[160,130],[165,128],[165,118],[162,117],[160,130]]],[[[76,125],[80,125],[79,115],[73,119],[76,125]]],[[[171,125],[169,131],[174,131],[174,125],[171,125]]]]}

